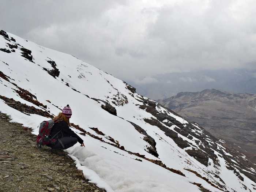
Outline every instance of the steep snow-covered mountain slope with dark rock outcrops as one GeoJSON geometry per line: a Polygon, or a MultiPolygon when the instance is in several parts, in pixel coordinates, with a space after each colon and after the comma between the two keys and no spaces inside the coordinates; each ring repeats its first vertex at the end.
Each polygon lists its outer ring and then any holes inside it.
{"type": "Polygon", "coordinates": [[[86,145],[67,151],[108,192],[256,190],[256,166],[198,124],[74,56],[0,31],[1,112],[37,134],[66,104],[86,145]]]}

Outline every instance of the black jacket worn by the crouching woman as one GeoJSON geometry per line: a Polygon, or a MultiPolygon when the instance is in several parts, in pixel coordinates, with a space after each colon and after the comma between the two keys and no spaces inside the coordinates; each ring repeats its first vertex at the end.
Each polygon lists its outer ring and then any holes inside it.
{"type": "Polygon", "coordinates": [[[54,123],[50,137],[54,136],[57,132],[59,133],[57,134],[57,136],[54,137],[54,139],[59,139],[63,137],[74,137],[77,138],[80,144],[83,143],[83,139],[76,135],[76,133],[68,127],[68,124],[65,121],[59,121],[57,123],[54,123]]]}

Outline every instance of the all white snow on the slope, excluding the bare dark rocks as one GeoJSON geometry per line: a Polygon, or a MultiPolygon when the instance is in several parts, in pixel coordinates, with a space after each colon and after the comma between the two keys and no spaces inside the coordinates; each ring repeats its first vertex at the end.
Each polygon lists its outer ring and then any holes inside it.
{"type": "MultiPolygon", "coordinates": [[[[192,147],[181,149],[158,127],[146,123],[143,119],[152,118],[153,116],[150,113],[147,113],[146,110],[142,110],[136,106],[137,104],[142,105],[141,102],[135,99],[141,99],[141,96],[135,93],[134,97],[132,97],[129,94],[131,92],[126,89],[122,80],[116,79],[112,75],[106,74],[100,69],[71,55],[44,48],[30,41],[27,42],[16,35],[9,35],[14,37],[16,42],[20,45],[32,50],[33,61],[35,63],[21,57],[18,49],[16,52],[12,53],[4,53],[0,51],[0,60],[9,64],[6,65],[1,62],[0,71],[14,79],[10,80],[11,82],[16,83],[19,87],[29,90],[30,93],[36,95],[39,102],[47,105],[47,110],[49,110],[50,113],[56,115],[60,112],[56,106],[63,108],[66,104],[69,104],[73,111],[73,116],[71,118],[72,123],[78,124],[87,132],[99,136],[105,142],[112,143],[107,139],[108,136],[111,136],[114,140],[119,142],[120,146],[124,146],[125,150],[145,155],[145,157],[149,159],[161,160],[167,167],[180,170],[186,175],[186,177],[183,177],[170,172],[161,166],[135,155],[131,155],[126,151],[94,139],[89,135],[80,135],[84,140],[86,147],[80,147],[79,144],[76,144],[69,148],[67,152],[70,157],[74,159],[78,169],[83,170],[84,176],[91,180],[90,182],[97,184],[100,188],[106,189],[107,192],[200,192],[199,188],[196,185],[191,184],[191,182],[201,183],[204,188],[207,188],[212,192],[220,191],[197,177],[194,173],[184,170],[184,168],[187,168],[195,170],[202,176],[209,178],[211,182],[219,180],[211,173],[219,172],[219,176],[226,183],[225,186],[227,187],[227,190],[231,191],[231,188],[233,188],[236,189],[236,191],[246,191],[244,188],[241,188],[241,180],[239,180],[232,171],[226,169],[226,162],[223,158],[217,155],[221,163],[221,167],[218,169],[213,166],[214,163],[212,159],[209,159],[211,165],[206,167],[187,154],[185,150],[191,149],[192,147]],[[57,64],[56,67],[60,70],[60,75],[59,77],[56,77],[56,79],[42,69],[42,67],[51,69],[47,60],[55,61],[57,64]],[[61,79],[63,79],[63,81],[61,79]],[[68,83],[69,87],[66,86],[65,83],[68,83]],[[71,88],[74,88],[81,93],[78,93],[71,88]],[[113,105],[117,110],[117,116],[113,116],[101,108],[101,105],[103,104],[102,102],[98,103],[97,101],[86,97],[84,94],[89,95],[91,98],[109,101],[110,104],[112,104],[112,101],[115,101],[112,98],[118,99],[115,95],[123,94],[127,97],[128,103],[123,106],[113,105]],[[49,100],[51,103],[46,100],[49,100]],[[159,154],[158,158],[147,153],[146,148],[149,144],[143,140],[144,135],[136,131],[133,125],[128,121],[132,121],[136,125],[142,127],[147,134],[155,140],[157,152],[159,154]],[[105,134],[105,136],[98,135],[89,127],[98,128],[105,134]],[[141,159],[142,162],[135,160],[136,158],[141,159]],[[234,182],[236,183],[235,186],[233,186],[234,182]]],[[[0,48],[5,47],[6,42],[7,41],[0,36],[0,48]]],[[[17,89],[18,88],[12,83],[0,78],[0,95],[13,98],[28,106],[34,106],[37,109],[45,110],[20,98],[14,91],[17,89]]],[[[120,96],[120,98],[124,99],[123,96],[120,96]]],[[[187,128],[186,124],[189,123],[184,118],[169,112],[161,106],[157,106],[156,109],[184,124],[184,129],[187,128]]],[[[12,121],[33,128],[34,134],[38,133],[37,126],[39,123],[47,119],[36,114],[27,115],[21,113],[8,106],[1,99],[0,110],[3,113],[10,114],[12,121]]],[[[163,123],[168,122],[167,119],[163,120],[163,123]]],[[[165,124],[162,125],[166,126],[165,124]]],[[[192,129],[192,131],[196,132],[197,135],[203,133],[202,128],[197,125],[193,126],[195,126],[196,129],[192,129]]],[[[174,127],[177,126],[172,125],[167,128],[175,131],[174,127]]],[[[77,129],[73,128],[73,130],[78,134],[80,133],[77,129]]],[[[195,143],[195,140],[197,140],[196,138],[193,137],[192,140],[189,140],[180,133],[178,133],[178,137],[187,140],[189,143],[198,147],[195,143]]],[[[209,138],[207,141],[213,143],[209,138]]],[[[225,143],[221,140],[220,142],[225,143]]],[[[202,142],[200,141],[199,144],[202,145],[202,142]]],[[[226,155],[229,155],[230,158],[232,158],[232,155],[226,153],[223,146],[218,144],[218,147],[221,148],[226,155]]],[[[214,153],[218,154],[217,151],[214,151],[214,153]]],[[[234,162],[233,159],[231,160],[234,162]]],[[[252,172],[255,171],[252,168],[251,170],[252,172]]],[[[245,181],[242,183],[253,191],[251,184],[255,184],[255,182],[249,180],[246,176],[243,177],[245,178],[245,181]]]]}

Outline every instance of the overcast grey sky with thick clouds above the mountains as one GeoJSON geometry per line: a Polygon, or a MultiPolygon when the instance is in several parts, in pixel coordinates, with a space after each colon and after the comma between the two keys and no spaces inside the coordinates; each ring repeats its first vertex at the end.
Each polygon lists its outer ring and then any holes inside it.
{"type": "Polygon", "coordinates": [[[256,68],[255,0],[1,0],[0,28],[137,83],[256,68]]]}

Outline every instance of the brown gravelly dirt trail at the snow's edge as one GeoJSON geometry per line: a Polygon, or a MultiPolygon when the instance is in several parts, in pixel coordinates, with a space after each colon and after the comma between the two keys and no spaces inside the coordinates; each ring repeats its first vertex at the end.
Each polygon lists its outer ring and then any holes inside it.
{"type": "Polygon", "coordinates": [[[35,146],[35,135],[0,112],[0,192],[105,192],[84,179],[74,161],[35,146]]]}

